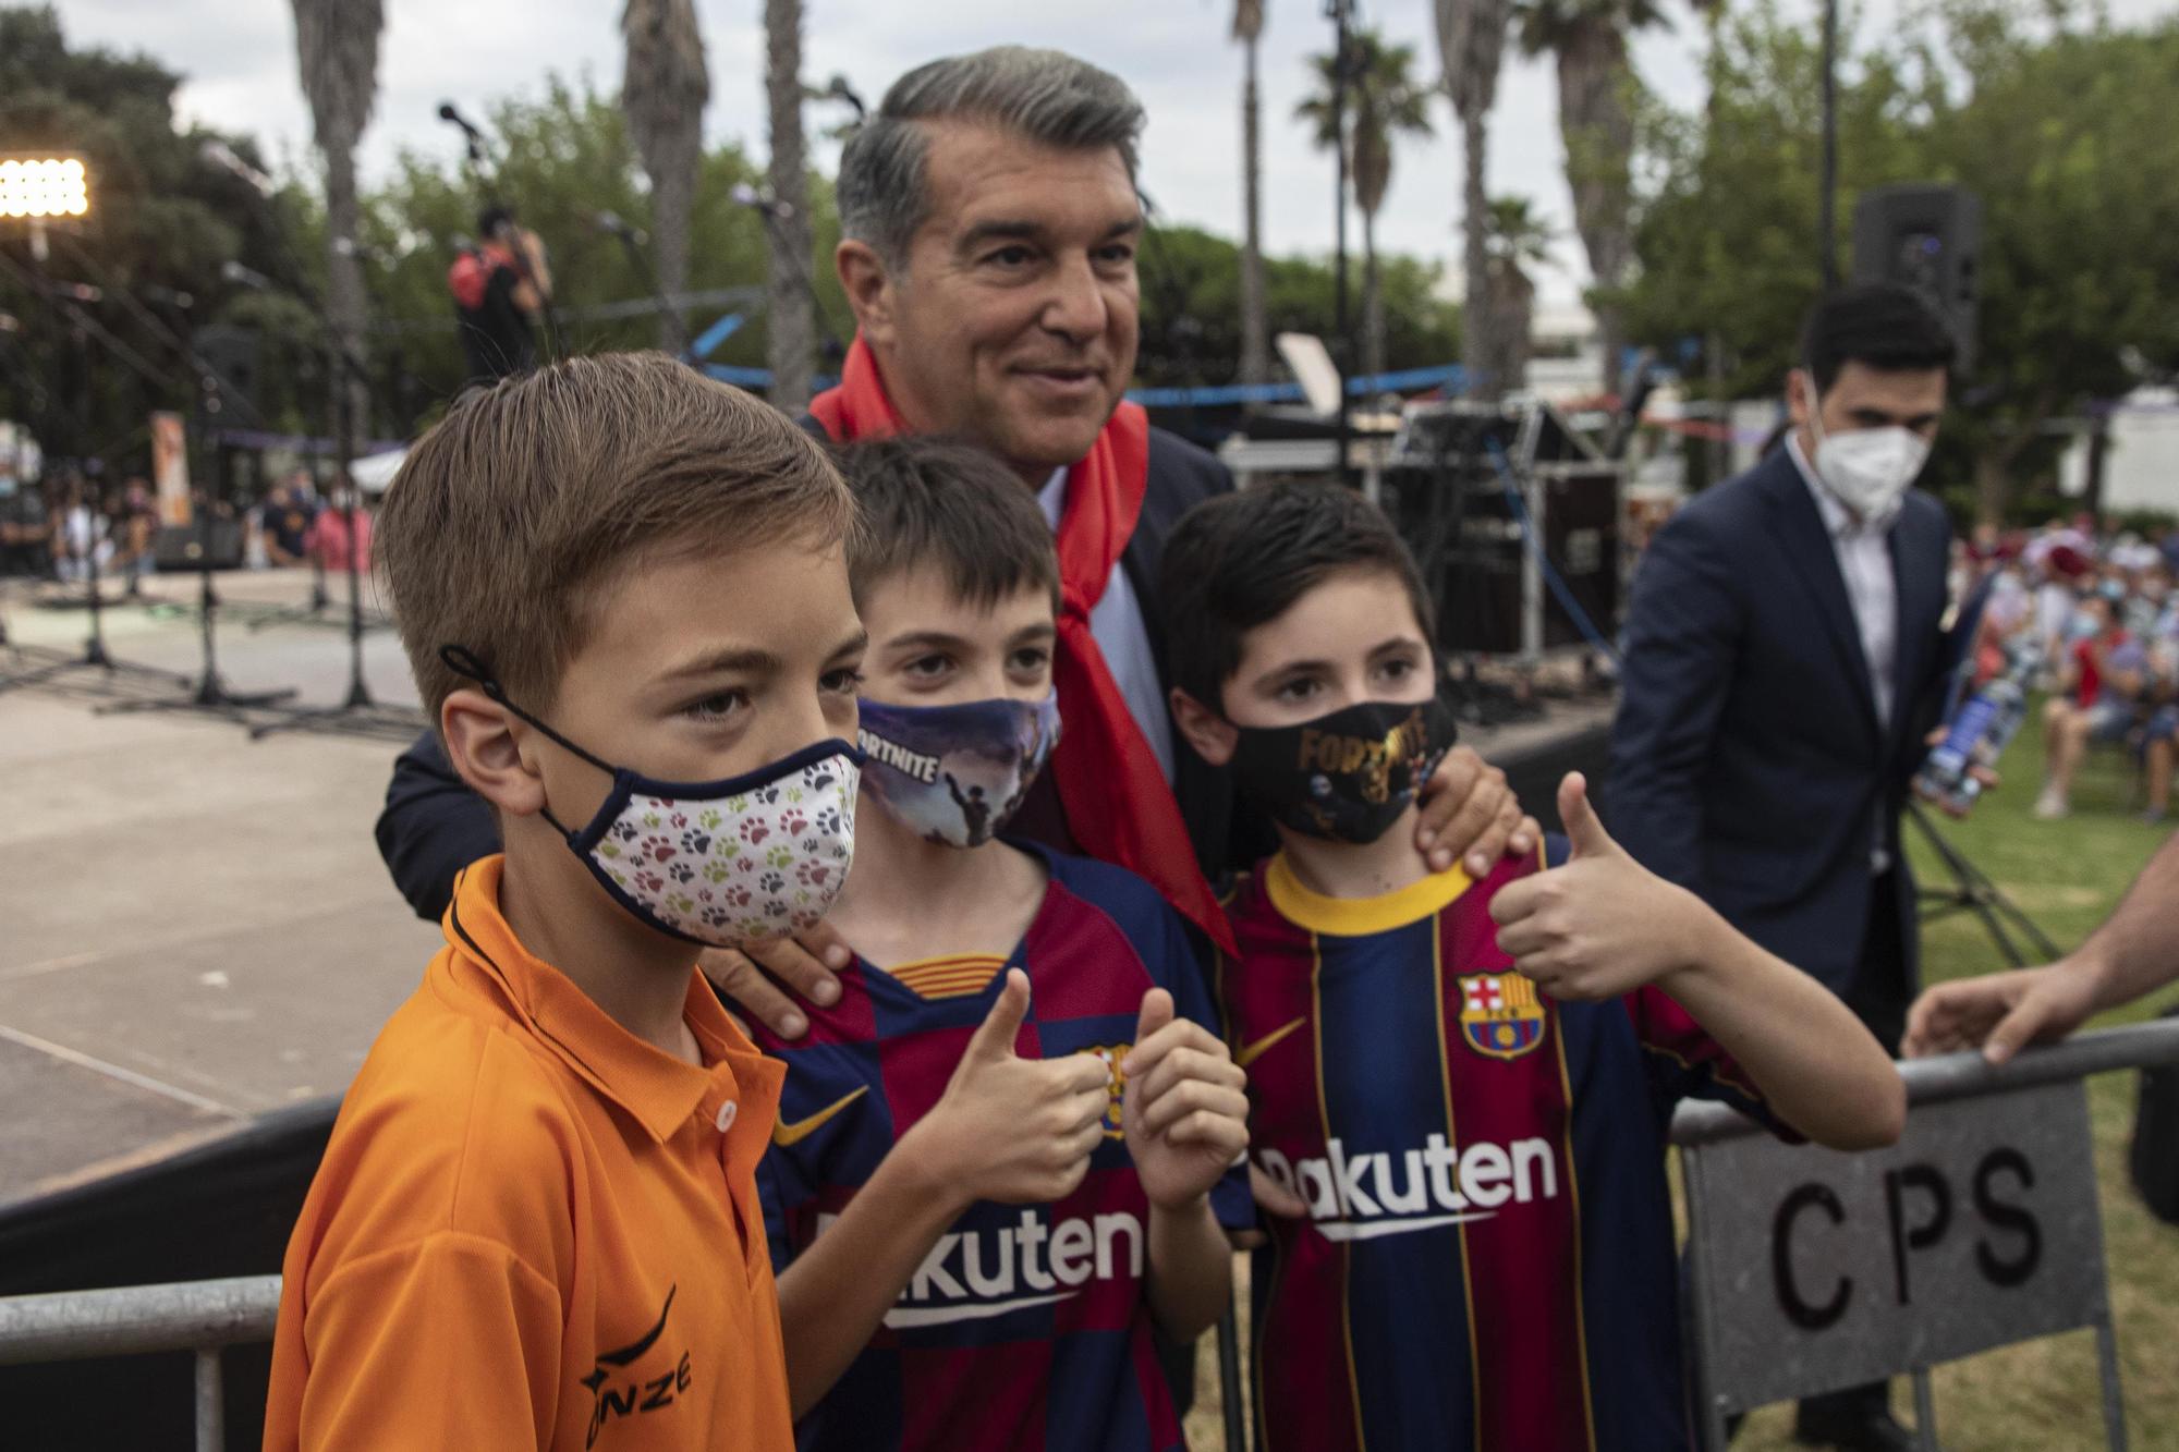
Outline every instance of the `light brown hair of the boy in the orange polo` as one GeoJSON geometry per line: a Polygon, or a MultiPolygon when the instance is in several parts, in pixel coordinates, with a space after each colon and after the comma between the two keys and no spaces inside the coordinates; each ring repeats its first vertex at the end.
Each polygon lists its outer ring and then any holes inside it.
{"type": "Polygon", "coordinates": [[[401,462],[377,549],[436,722],[464,685],[445,645],[547,711],[628,569],[826,545],[852,523],[848,486],[784,414],[665,353],[604,353],[460,399],[401,462]]]}

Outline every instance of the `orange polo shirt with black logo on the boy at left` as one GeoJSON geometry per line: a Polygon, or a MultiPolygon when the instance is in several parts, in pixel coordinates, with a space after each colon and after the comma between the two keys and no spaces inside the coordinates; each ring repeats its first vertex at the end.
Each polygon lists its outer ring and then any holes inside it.
{"type": "Polygon", "coordinates": [[[780,1064],[691,968],[704,1068],[455,881],[288,1243],[266,1448],[793,1448],[756,1160],[780,1064]]]}

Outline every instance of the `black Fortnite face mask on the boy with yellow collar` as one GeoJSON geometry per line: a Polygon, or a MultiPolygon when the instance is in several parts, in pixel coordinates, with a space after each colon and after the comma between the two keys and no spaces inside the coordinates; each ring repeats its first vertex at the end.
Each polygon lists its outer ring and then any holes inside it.
{"type": "Polygon", "coordinates": [[[1366,700],[1301,726],[1240,726],[1233,772],[1281,824],[1327,842],[1375,842],[1414,802],[1460,735],[1442,700],[1366,700]]]}

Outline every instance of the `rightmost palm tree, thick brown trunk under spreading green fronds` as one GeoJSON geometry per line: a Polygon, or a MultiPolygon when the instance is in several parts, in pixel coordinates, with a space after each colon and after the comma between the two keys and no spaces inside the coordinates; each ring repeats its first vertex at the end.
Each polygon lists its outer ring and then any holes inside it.
{"type": "Polygon", "coordinates": [[[1654,0],[1519,0],[1521,50],[1558,61],[1558,131],[1567,144],[1573,229],[1595,277],[1591,305],[1604,338],[1604,388],[1619,384],[1626,316],[1612,290],[1634,262],[1634,68],[1628,37],[1663,24],[1654,0]]]}

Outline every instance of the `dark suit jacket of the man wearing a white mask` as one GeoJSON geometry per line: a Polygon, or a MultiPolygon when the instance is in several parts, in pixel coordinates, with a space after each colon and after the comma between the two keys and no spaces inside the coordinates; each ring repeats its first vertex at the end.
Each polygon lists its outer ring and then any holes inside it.
{"type": "Polygon", "coordinates": [[[1610,826],[1778,957],[1846,992],[1870,922],[1880,822],[1918,977],[1900,809],[1935,724],[1950,525],[1909,491],[1891,525],[1898,656],[1880,728],[1824,517],[1778,449],[1693,499],[1634,573],[1610,826]]]}

